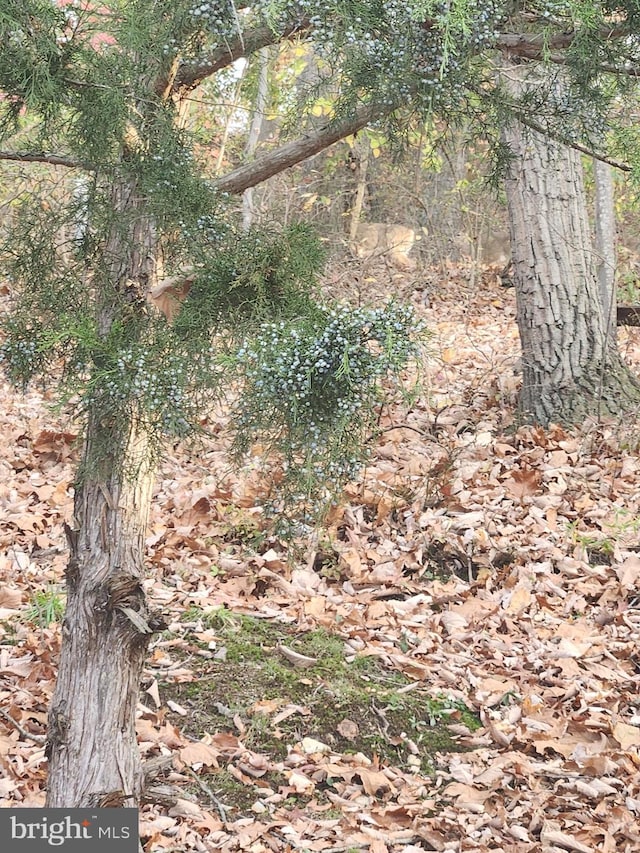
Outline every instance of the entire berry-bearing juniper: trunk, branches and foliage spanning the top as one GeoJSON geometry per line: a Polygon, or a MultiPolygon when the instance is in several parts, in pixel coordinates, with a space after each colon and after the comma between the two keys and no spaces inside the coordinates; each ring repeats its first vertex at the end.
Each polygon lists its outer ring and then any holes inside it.
{"type": "MultiPolygon", "coordinates": [[[[135,705],[161,625],[142,587],[143,545],[166,437],[197,428],[236,366],[247,391],[238,451],[266,432],[291,498],[304,500],[349,474],[380,380],[412,352],[409,314],[322,306],[309,233],[239,233],[226,194],[371,122],[400,141],[412,118],[436,111],[480,132],[488,114],[504,116],[500,51],[565,63],[575,104],[586,94],[604,108],[610,93],[598,75],[618,53],[635,59],[636,14],[632,3],[544,0],[4,0],[0,158],[84,175],[16,205],[2,251],[13,289],[4,367],[16,382],[55,376],[85,421],[49,721],[50,806],[140,797],[135,705]],[[208,180],[185,129],[191,93],[234,59],[290,38],[313,41],[334,115],[208,180]],[[148,295],[186,271],[191,288],[169,323],[148,295]]],[[[540,104],[544,95],[511,107],[531,122],[540,104]]]]}

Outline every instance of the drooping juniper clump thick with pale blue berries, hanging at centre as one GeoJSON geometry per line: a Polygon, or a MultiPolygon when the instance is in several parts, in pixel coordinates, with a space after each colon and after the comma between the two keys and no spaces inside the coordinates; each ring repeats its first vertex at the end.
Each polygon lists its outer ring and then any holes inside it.
{"type": "Polygon", "coordinates": [[[381,384],[399,378],[421,331],[412,309],[393,302],[264,324],[237,353],[244,388],[236,449],[266,439],[283,471],[281,494],[321,511],[325,489],[335,491],[362,464],[381,384]]]}

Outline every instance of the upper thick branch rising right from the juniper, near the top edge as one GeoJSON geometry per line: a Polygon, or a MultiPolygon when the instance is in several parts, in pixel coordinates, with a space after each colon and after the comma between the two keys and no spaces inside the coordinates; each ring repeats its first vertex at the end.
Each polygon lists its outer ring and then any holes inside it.
{"type": "Polygon", "coordinates": [[[279,32],[264,24],[239,33],[234,41],[228,41],[213,50],[196,65],[183,65],[175,76],[172,85],[174,95],[181,95],[195,89],[203,80],[226,68],[237,59],[249,56],[263,47],[278,44],[283,39],[306,32],[310,28],[306,18],[297,18],[286,24],[279,32]]]}

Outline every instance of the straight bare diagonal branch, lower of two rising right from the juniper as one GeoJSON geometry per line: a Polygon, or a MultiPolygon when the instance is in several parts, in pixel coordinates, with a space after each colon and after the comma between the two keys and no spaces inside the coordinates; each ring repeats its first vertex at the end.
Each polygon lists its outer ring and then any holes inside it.
{"type": "Polygon", "coordinates": [[[318,130],[312,130],[299,139],[265,154],[264,157],[234,169],[233,172],[218,178],[214,186],[221,192],[242,193],[249,187],[255,187],[273,175],[313,157],[346,136],[352,136],[372,121],[389,115],[397,107],[397,103],[384,106],[377,103],[362,104],[354,115],[330,121],[318,130]]]}

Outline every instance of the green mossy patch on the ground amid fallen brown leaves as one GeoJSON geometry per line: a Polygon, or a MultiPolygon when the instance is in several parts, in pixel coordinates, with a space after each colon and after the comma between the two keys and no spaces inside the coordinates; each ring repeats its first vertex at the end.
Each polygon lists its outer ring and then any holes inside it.
{"type": "MultiPolygon", "coordinates": [[[[189,618],[194,616],[192,609],[189,618]]],[[[214,632],[220,659],[208,661],[197,681],[163,686],[165,700],[188,709],[179,722],[191,736],[237,734],[239,717],[244,745],[273,761],[310,737],[337,753],[361,752],[383,764],[429,774],[436,752],[462,749],[448,723],[462,722],[470,729],[479,725],[467,708],[447,697],[434,699],[420,689],[402,692],[409,679],[376,657],[347,662],[344,641],[325,630],[299,632],[224,609],[208,616],[200,612],[200,621],[214,632]],[[295,666],[281,646],[315,663],[295,666]],[[287,706],[298,707],[274,722],[287,706]],[[415,747],[417,756],[411,751],[415,747]]],[[[255,801],[256,791],[247,790],[224,768],[207,779],[216,796],[240,813],[255,801]]],[[[278,780],[272,783],[277,789],[278,780]]]]}

